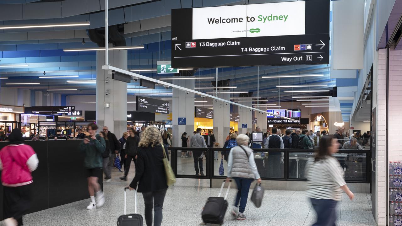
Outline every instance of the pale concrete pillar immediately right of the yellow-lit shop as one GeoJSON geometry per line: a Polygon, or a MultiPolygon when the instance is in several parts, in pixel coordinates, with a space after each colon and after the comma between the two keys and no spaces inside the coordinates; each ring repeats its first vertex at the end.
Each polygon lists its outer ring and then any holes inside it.
{"type": "MultiPolygon", "coordinates": [[[[218,97],[230,100],[230,93],[220,93],[218,97]]],[[[230,104],[213,101],[213,134],[222,148],[230,132],[230,104]]]]}

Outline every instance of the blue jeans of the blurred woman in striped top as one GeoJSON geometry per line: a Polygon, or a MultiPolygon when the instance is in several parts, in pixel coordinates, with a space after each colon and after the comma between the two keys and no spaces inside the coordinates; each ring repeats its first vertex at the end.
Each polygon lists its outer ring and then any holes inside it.
{"type": "Polygon", "coordinates": [[[338,201],[313,198],[310,200],[317,213],[317,222],[312,226],[336,226],[336,204],[338,201]]]}

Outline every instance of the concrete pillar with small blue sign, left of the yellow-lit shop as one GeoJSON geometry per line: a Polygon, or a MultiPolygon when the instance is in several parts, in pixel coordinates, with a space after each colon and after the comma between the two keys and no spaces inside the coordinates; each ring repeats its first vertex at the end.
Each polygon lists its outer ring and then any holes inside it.
{"type": "MultiPolygon", "coordinates": [[[[193,79],[173,80],[173,84],[194,89],[193,79]]],[[[181,135],[193,136],[194,131],[194,93],[187,94],[182,90],[173,88],[172,112],[172,139],[174,147],[181,147],[181,135]],[[178,118],[186,118],[186,125],[178,125],[178,118]]]]}

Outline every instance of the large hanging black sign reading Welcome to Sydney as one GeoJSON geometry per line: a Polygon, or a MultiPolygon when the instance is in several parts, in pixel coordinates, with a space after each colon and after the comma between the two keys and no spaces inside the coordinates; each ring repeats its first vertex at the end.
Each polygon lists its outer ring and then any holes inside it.
{"type": "Polygon", "coordinates": [[[329,64],[329,12],[325,0],[172,9],[172,67],[329,64]]]}

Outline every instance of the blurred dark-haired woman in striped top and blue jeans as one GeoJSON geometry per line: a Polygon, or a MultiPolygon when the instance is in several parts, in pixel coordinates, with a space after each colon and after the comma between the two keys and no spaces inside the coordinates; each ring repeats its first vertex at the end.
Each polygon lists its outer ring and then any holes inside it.
{"type": "Polygon", "coordinates": [[[342,190],[353,199],[355,195],[345,183],[343,169],[332,154],[338,152],[338,141],[332,136],[320,140],[320,148],[306,164],[307,196],[317,213],[313,226],[335,225],[336,204],[342,199],[342,190]]]}

